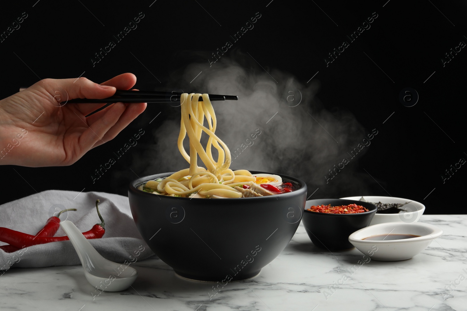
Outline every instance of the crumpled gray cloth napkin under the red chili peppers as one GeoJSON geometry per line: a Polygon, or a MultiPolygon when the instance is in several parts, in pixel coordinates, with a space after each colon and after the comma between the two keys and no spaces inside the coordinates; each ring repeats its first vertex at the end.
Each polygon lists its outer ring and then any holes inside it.
{"type": "MultiPolygon", "coordinates": [[[[100,200],[99,211],[104,218],[106,232],[102,238],[88,241],[99,254],[117,263],[134,263],[154,256],[134,224],[128,198],[117,194],[62,190],[33,194],[1,205],[0,227],[35,235],[54,212],[76,208],[77,211],[62,214],[60,220],[72,221],[81,232],[85,232],[101,222],[96,211],[97,199],[100,200]]],[[[55,236],[64,235],[59,228],[55,236]]],[[[5,244],[0,242],[0,245],[5,244]]],[[[0,270],[78,264],[78,254],[70,241],[34,245],[13,253],[0,249],[0,270]]]]}

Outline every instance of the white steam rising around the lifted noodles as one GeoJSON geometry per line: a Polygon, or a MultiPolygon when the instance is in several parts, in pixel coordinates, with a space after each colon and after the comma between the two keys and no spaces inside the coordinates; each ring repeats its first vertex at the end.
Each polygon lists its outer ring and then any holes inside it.
{"type": "MultiPolygon", "coordinates": [[[[307,183],[308,195],[320,187],[313,198],[337,198],[344,190],[362,194],[366,190],[363,185],[366,177],[353,177],[355,164],[368,148],[355,159],[347,152],[369,131],[348,111],[325,110],[315,97],[319,88],[317,79],[303,84],[278,70],[268,70],[269,75],[253,60],[248,61],[248,55],[235,58],[241,62],[225,57],[208,69],[205,63],[191,64],[182,77],[173,77],[171,84],[179,85],[188,93],[238,95],[238,101],[213,102],[218,120],[216,135],[232,153],[231,168],[297,177],[307,183]],[[261,134],[252,139],[257,129],[261,134]],[[351,163],[326,183],[325,175],[332,177],[329,169],[345,157],[351,163]]],[[[170,116],[154,130],[154,146],[141,159],[141,155],[134,154],[136,168],[145,175],[187,168],[189,164],[177,149],[179,130],[180,107],[174,107],[170,116]]],[[[188,138],[185,139],[187,143],[188,138]]],[[[188,150],[188,144],[185,148],[188,150]]],[[[203,166],[199,159],[198,165],[203,166]]]]}

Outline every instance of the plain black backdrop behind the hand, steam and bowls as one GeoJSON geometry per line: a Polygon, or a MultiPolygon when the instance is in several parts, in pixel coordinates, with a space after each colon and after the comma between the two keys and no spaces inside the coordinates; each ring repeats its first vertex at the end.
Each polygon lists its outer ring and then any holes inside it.
{"type": "MultiPolygon", "coordinates": [[[[445,67],[441,58],[460,41],[467,42],[466,2],[315,2],[33,0],[2,3],[0,32],[6,31],[23,12],[28,17],[20,29],[0,42],[3,84],[0,96],[8,97],[20,87],[43,78],[78,77],[84,71],[83,76],[98,83],[132,72],[138,78],[135,88],[140,90],[177,88],[180,87],[176,85],[178,73],[192,62],[205,62],[208,72],[207,59],[212,57],[211,53],[260,12],[262,17],[255,28],[224,57],[248,52],[262,66],[251,62],[257,67],[255,70],[288,72],[304,85],[318,72],[312,82],[320,84],[316,97],[324,109],[331,113],[350,111],[366,133],[374,128],[379,131],[378,139],[352,164],[354,169],[336,176],[339,183],[326,184],[325,178],[317,183],[309,176],[295,173],[307,181],[309,195],[319,188],[313,199],[390,194],[422,202],[426,206],[425,214],[465,214],[460,195],[465,191],[462,180],[467,169],[462,166],[444,183],[441,176],[460,158],[467,159],[463,108],[467,51],[463,48],[445,67]],[[104,48],[140,12],[144,18],[138,28],[93,67],[94,53],[104,48]],[[326,67],[327,54],[347,40],[346,35],[373,12],[378,17],[371,28],[326,67]],[[399,101],[399,92],[406,87],[417,90],[419,95],[412,107],[399,101]],[[339,186],[353,184],[355,179],[365,185],[361,190],[365,193],[339,186]]],[[[134,163],[131,154],[125,154],[99,182],[92,183],[90,175],[94,168],[106,162],[109,153],[118,150],[140,128],[147,134],[130,151],[145,154],[154,145],[151,133],[160,124],[149,122],[159,112],[158,120],[179,113],[169,106],[149,104],[116,138],[91,150],[71,166],[0,166],[0,203],[48,189],[127,195],[127,184],[136,179],[136,174],[161,172],[145,171],[141,163],[134,163]]],[[[272,115],[270,111],[265,114],[272,115]]],[[[310,122],[314,121],[310,119],[310,122]]],[[[332,133],[332,129],[328,131],[332,133]]],[[[319,149],[316,146],[316,152],[319,149]]],[[[177,152],[166,156],[181,157],[177,152]]],[[[339,163],[339,159],[342,156],[335,155],[333,163],[339,163]]],[[[181,168],[174,167],[173,171],[181,168]]],[[[316,174],[324,176],[327,169],[327,166],[316,167],[316,174]]],[[[284,168],[276,173],[290,172],[284,168]]]]}

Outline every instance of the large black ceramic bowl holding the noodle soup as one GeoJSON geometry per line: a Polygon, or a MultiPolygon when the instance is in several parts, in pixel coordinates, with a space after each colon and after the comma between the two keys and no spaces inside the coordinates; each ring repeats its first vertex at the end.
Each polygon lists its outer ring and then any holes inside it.
{"type": "Polygon", "coordinates": [[[219,283],[251,278],[279,255],[297,231],[306,200],[306,184],[301,180],[279,175],[301,187],[254,198],[189,199],[136,188],[172,173],[134,180],[128,198],[144,241],[179,276],[219,283]]]}

